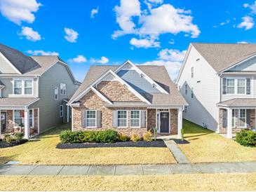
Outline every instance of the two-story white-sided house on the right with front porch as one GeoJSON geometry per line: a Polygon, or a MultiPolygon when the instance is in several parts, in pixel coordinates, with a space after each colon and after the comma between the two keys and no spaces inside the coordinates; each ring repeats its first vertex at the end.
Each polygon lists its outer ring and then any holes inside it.
{"type": "Polygon", "coordinates": [[[255,128],[256,44],[191,43],[177,85],[187,120],[229,138],[255,128]]]}

